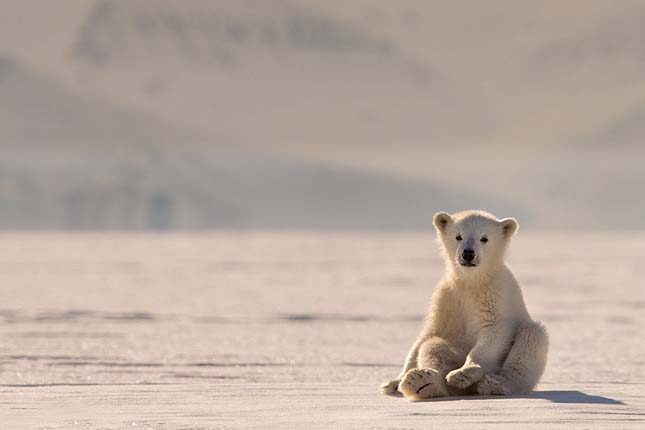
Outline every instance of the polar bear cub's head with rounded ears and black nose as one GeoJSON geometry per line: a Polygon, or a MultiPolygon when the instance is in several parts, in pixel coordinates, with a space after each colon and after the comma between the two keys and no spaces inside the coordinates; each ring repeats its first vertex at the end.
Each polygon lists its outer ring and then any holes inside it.
{"type": "Polygon", "coordinates": [[[438,212],[433,224],[449,268],[466,275],[500,267],[518,228],[514,218],[500,220],[483,211],[438,212]]]}

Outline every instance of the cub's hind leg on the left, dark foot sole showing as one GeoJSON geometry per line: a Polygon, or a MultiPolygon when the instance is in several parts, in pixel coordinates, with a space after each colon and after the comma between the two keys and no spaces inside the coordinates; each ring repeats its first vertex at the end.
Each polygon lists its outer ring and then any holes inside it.
{"type": "Polygon", "coordinates": [[[399,391],[410,400],[460,394],[449,391],[446,374],[463,364],[466,351],[444,339],[432,337],[419,347],[416,369],[405,374],[399,391]]]}

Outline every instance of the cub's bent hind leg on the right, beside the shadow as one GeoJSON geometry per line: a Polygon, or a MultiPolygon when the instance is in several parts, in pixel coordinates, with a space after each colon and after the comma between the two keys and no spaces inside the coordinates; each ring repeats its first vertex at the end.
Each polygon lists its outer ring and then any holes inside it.
{"type": "Polygon", "coordinates": [[[531,392],[546,366],[548,347],[549,338],[542,324],[524,324],[517,330],[501,370],[484,375],[477,384],[477,392],[484,395],[531,392]]]}

